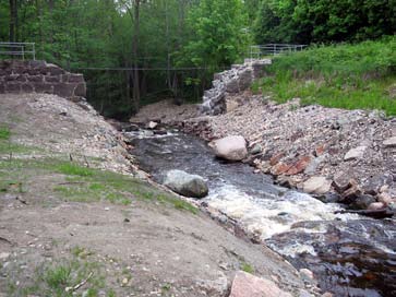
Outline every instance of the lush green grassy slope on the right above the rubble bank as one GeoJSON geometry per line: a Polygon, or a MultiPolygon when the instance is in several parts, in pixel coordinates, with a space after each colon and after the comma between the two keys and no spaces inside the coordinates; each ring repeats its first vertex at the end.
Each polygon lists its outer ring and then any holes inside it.
{"type": "Polygon", "coordinates": [[[278,103],[301,98],[345,109],[380,109],[396,116],[396,37],[357,45],[315,47],[279,56],[268,76],[252,85],[278,103]]]}

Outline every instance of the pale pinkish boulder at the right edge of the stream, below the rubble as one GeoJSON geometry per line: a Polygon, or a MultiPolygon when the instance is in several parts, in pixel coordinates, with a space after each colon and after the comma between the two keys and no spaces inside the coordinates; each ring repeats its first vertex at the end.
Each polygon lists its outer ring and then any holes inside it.
{"type": "Polygon", "coordinates": [[[216,156],[228,161],[241,161],[248,156],[247,141],[240,135],[231,135],[213,142],[216,156]]]}

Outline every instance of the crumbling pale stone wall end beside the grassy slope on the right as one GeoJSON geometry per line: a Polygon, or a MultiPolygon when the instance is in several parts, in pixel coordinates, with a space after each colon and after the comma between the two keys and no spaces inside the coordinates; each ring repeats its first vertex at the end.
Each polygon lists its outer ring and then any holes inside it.
{"type": "Polygon", "coordinates": [[[269,59],[245,60],[243,64],[235,64],[230,70],[216,73],[213,87],[204,93],[201,112],[224,114],[227,109],[227,96],[249,88],[255,79],[264,74],[266,64],[271,64],[269,59]]]}

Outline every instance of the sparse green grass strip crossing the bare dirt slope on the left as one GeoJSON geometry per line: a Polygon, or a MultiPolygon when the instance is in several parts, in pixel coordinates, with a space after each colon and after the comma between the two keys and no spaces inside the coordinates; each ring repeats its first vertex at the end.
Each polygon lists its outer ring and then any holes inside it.
{"type": "MultiPolygon", "coordinates": [[[[197,209],[190,203],[155,189],[145,181],[111,171],[87,168],[76,163],[57,158],[0,161],[0,190],[11,191],[10,185],[24,185],[37,176],[61,174],[65,182],[53,185],[52,194],[62,201],[99,202],[129,205],[132,200],[158,202],[177,210],[196,214],[197,209]]],[[[16,190],[14,190],[16,191],[16,190]]]]}

